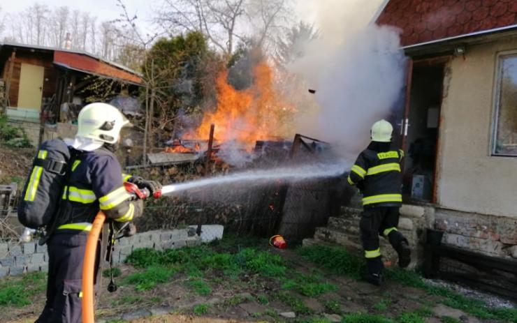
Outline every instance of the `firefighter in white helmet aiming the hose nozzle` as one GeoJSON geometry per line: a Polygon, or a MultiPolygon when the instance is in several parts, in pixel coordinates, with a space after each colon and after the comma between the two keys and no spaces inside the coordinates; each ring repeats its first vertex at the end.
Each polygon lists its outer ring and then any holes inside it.
{"type": "Polygon", "coordinates": [[[127,123],[116,107],[92,103],[79,112],[75,138],[65,140],[72,158],[50,227],[47,301],[36,322],[81,322],[82,262],[96,213],[101,210],[112,220],[112,230],[127,228],[124,224],[140,216],[143,203],[129,200],[123,182],[131,181],[151,193],[161,188],[156,181],[122,174],[115,151],[127,123]]]}

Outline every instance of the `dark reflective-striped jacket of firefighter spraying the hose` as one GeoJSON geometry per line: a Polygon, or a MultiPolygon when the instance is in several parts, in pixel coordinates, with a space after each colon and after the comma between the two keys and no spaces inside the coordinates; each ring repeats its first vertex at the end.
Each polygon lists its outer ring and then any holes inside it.
{"type": "Polygon", "coordinates": [[[128,222],[140,216],[142,204],[129,201],[122,174],[115,155],[101,147],[81,151],[71,162],[71,173],[61,196],[57,216],[58,232],[88,232],[99,212],[118,222],[128,222]]]}

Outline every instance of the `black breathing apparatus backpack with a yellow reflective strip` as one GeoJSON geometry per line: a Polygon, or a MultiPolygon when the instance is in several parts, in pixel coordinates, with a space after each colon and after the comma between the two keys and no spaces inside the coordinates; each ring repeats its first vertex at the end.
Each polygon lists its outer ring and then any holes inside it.
{"type": "Polygon", "coordinates": [[[75,149],[63,140],[43,142],[25,181],[18,204],[18,220],[25,227],[49,226],[57,214],[75,149]]]}

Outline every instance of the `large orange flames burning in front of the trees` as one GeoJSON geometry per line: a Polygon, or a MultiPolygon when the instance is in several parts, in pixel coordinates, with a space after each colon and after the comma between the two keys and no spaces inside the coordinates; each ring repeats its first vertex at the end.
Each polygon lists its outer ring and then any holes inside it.
{"type": "Polygon", "coordinates": [[[217,77],[217,108],[206,112],[201,126],[184,137],[207,139],[212,123],[217,141],[234,141],[245,149],[252,149],[256,140],[291,136],[286,125],[290,124],[294,107],[275,89],[272,68],[268,63],[259,63],[253,75],[252,86],[238,91],[228,84],[228,71],[221,73],[217,77]]]}

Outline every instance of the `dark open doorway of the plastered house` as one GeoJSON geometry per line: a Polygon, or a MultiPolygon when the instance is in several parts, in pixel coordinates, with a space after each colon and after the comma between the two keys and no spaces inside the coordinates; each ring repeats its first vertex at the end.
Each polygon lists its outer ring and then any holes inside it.
{"type": "Polygon", "coordinates": [[[405,117],[400,121],[405,151],[405,202],[436,202],[437,151],[445,66],[449,57],[409,63],[405,117]]]}

